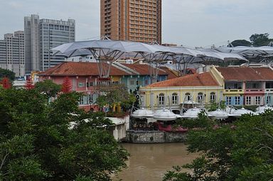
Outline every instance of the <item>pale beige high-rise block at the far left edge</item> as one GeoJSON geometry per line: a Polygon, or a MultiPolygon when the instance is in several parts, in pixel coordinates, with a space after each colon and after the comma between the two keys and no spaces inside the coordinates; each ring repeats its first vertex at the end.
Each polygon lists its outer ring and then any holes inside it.
{"type": "Polygon", "coordinates": [[[15,76],[25,75],[25,46],[23,31],[4,35],[0,40],[0,67],[15,72],[15,76]]]}

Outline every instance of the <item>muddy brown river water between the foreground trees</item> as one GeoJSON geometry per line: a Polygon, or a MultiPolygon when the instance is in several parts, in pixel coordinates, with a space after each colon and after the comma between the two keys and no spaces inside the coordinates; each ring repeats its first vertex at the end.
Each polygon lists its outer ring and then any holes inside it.
{"type": "Polygon", "coordinates": [[[188,154],[183,143],[122,144],[130,153],[128,168],[118,174],[124,181],[162,180],[166,170],[173,165],[191,163],[197,154],[188,154]]]}

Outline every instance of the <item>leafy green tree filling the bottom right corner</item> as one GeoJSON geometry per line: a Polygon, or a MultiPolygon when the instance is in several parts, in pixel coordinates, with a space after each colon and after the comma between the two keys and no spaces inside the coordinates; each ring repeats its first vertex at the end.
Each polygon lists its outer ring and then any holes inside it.
{"type": "Polygon", "coordinates": [[[244,115],[235,126],[190,131],[190,152],[203,153],[191,164],[169,170],[164,180],[271,180],[273,177],[273,112],[244,115]],[[192,173],[181,171],[183,168],[192,173]]]}

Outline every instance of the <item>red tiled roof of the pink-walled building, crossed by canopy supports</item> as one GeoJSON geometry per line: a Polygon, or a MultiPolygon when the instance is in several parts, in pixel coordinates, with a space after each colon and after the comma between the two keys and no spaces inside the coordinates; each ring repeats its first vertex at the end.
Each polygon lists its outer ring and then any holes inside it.
{"type": "MultiPolygon", "coordinates": [[[[109,66],[105,64],[104,66],[109,66]]],[[[99,75],[98,67],[96,62],[63,62],[60,65],[51,67],[45,72],[41,72],[38,75],[79,75],[79,76],[90,76],[99,75]]],[[[127,72],[117,69],[116,67],[110,68],[109,75],[129,75],[127,72]]]]}

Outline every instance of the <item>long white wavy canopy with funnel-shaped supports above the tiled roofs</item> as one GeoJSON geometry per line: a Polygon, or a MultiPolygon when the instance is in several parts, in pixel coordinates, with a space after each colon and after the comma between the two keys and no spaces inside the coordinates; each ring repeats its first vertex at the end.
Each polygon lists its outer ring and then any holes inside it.
{"type": "Polygon", "coordinates": [[[51,49],[56,55],[61,53],[66,57],[79,55],[93,55],[98,63],[100,77],[109,77],[112,62],[125,53],[141,55],[150,66],[151,77],[157,79],[159,64],[169,57],[172,60],[183,63],[202,62],[206,58],[215,60],[245,60],[235,53],[217,53],[213,51],[201,51],[184,47],[166,47],[162,45],[148,45],[145,43],[119,41],[119,40],[87,40],[74,43],[66,43],[51,49]],[[187,59],[186,59],[187,58],[187,59]],[[104,66],[108,63],[109,66],[104,66]]]}

